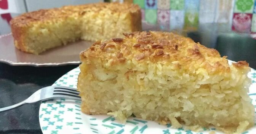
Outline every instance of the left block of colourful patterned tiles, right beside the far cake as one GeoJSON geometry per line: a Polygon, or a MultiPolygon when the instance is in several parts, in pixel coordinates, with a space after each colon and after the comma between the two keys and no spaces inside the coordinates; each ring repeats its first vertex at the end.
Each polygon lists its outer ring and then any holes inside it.
{"type": "Polygon", "coordinates": [[[164,30],[197,29],[200,0],[133,0],[142,20],[164,30]]]}

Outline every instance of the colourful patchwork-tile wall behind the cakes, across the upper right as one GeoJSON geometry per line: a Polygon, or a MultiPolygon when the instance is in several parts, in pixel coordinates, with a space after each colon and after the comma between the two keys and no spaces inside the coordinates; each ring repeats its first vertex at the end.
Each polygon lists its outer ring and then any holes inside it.
{"type": "Polygon", "coordinates": [[[142,21],[159,24],[163,30],[197,30],[200,24],[218,23],[256,38],[256,0],[133,0],[133,3],[141,7],[142,21]]]}

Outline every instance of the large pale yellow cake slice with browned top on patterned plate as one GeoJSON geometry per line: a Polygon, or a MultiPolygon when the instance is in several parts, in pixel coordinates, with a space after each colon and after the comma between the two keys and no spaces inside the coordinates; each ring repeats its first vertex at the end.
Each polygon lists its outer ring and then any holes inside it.
{"type": "Polygon", "coordinates": [[[215,49],[168,32],[124,33],[80,53],[82,112],[226,133],[254,124],[248,63],[229,65],[215,49]]]}

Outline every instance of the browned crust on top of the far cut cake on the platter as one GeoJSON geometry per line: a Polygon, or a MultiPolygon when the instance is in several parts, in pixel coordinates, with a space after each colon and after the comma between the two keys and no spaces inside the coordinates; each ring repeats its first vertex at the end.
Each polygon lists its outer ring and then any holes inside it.
{"type": "Polygon", "coordinates": [[[38,10],[24,13],[21,16],[13,18],[11,25],[26,25],[29,22],[47,21],[55,18],[66,18],[69,16],[79,16],[87,12],[98,12],[108,10],[115,12],[134,12],[139,10],[138,5],[131,3],[93,3],[77,6],[63,6],[61,8],[53,8],[48,10],[38,10]]]}

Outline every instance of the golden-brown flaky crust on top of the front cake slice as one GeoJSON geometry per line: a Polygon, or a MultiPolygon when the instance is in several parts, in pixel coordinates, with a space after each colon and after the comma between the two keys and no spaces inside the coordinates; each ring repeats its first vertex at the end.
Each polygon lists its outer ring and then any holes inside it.
{"type": "MultiPolygon", "coordinates": [[[[124,38],[96,41],[83,51],[82,58],[97,58],[111,65],[134,63],[161,63],[174,65],[177,69],[195,72],[200,68],[208,73],[230,72],[226,56],[221,57],[216,49],[206,48],[190,38],[168,32],[123,33],[124,38]]],[[[240,61],[237,68],[248,67],[240,61]]]]}

